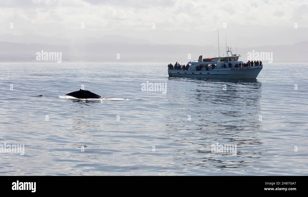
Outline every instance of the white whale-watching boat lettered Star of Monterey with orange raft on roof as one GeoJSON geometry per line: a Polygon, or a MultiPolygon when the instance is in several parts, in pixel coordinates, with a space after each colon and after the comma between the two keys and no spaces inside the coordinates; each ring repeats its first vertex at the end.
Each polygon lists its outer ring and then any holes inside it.
{"type": "MultiPolygon", "coordinates": [[[[230,52],[228,50],[228,52],[230,52]]],[[[239,61],[240,55],[219,56],[215,58],[204,58],[202,55],[198,61],[188,62],[188,70],[168,69],[169,77],[193,77],[193,78],[226,78],[226,79],[255,79],[260,73],[263,65],[236,66],[244,64],[239,61]],[[231,64],[231,66],[229,65],[231,64]],[[224,67],[224,64],[226,67],[224,67]],[[197,67],[198,66],[198,67],[197,67]],[[201,68],[201,69],[200,69],[201,68]]],[[[181,66],[182,67],[182,66],[181,66]]]]}

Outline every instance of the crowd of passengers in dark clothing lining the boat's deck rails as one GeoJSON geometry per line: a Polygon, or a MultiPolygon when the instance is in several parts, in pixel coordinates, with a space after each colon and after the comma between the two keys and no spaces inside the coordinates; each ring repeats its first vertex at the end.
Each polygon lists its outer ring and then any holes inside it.
{"type": "MultiPolygon", "coordinates": [[[[229,62],[229,68],[231,68],[232,67],[232,63],[231,62],[229,62]]],[[[251,61],[250,62],[250,60],[248,60],[248,62],[246,62],[246,63],[236,63],[235,65],[234,65],[234,67],[248,67],[248,66],[262,66],[262,62],[261,62],[261,60],[260,60],[260,62],[259,62],[259,60],[255,60],[255,61],[251,61]]],[[[212,66],[212,69],[213,68],[215,68],[215,65],[214,64],[212,64],[211,65],[212,66]]],[[[209,70],[209,67],[208,67],[208,65],[205,65],[204,66],[205,68],[206,68],[206,70],[209,70]]],[[[227,66],[226,66],[226,64],[224,64],[224,68],[226,68],[227,66]]],[[[188,70],[188,68],[189,68],[189,64],[187,64],[186,66],[185,65],[180,65],[179,63],[175,63],[174,64],[174,66],[170,63],[170,64],[168,64],[168,69],[169,70],[188,70]]],[[[196,66],[196,70],[201,70],[201,68],[203,68],[203,66],[196,66]]]]}

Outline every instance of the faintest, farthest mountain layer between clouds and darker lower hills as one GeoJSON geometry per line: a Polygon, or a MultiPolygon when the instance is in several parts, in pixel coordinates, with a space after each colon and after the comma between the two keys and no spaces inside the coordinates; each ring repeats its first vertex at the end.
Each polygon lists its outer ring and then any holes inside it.
{"type": "MultiPolygon", "coordinates": [[[[265,23],[266,24],[266,23],[265,23]]],[[[228,46],[255,47],[264,45],[287,45],[308,41],[307,27],[298,24],[283,24],[285,26],[257,26],[238,25],[228,22],[226,28],[219,28],[219,42],[225,47],[227,37],[228,46]]],[[[221,24],[222,26],[222,24],[221,24]]],[[[52,36],[37,34],[25,35],[0,35],[2,42],[16,42],[22,44],[48,44],[59,46],[71,46],[75,44],[90,44],[93,42],[126,42],[132,44],[184,44],[199,46],[218,46],[217,29],[208,29],[207,32],[197,30],[173,30],[160,29],[148,30],[97,30],[91,31],[76,28],[74,31],[64,30],[52,36]]]]}

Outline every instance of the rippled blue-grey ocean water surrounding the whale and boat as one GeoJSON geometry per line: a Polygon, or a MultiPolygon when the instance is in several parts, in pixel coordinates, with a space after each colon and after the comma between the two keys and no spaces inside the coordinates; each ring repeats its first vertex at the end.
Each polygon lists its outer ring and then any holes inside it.
{"type": "Polygon", "coordinates": [[[152,63],[1,63],[0,144],[25,151],[0,153],[0,175],[308,175],[307,66],[214,80],[152,63]],[[82,86],[103,98],[63,96],[82,86]]]}

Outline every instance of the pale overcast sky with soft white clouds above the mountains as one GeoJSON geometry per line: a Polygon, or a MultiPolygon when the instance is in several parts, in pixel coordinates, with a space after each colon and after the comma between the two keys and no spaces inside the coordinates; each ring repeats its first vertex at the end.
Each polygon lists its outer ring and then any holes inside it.
{"type": "Polygon", "coordinates": [[[308,26],[307,0],[0,0],[0,34],[53,36],[87,31],[186,30],[208,32],[241,27],[308,26]],[[10,23],[14,29],[10,29],[10,23]]]}

